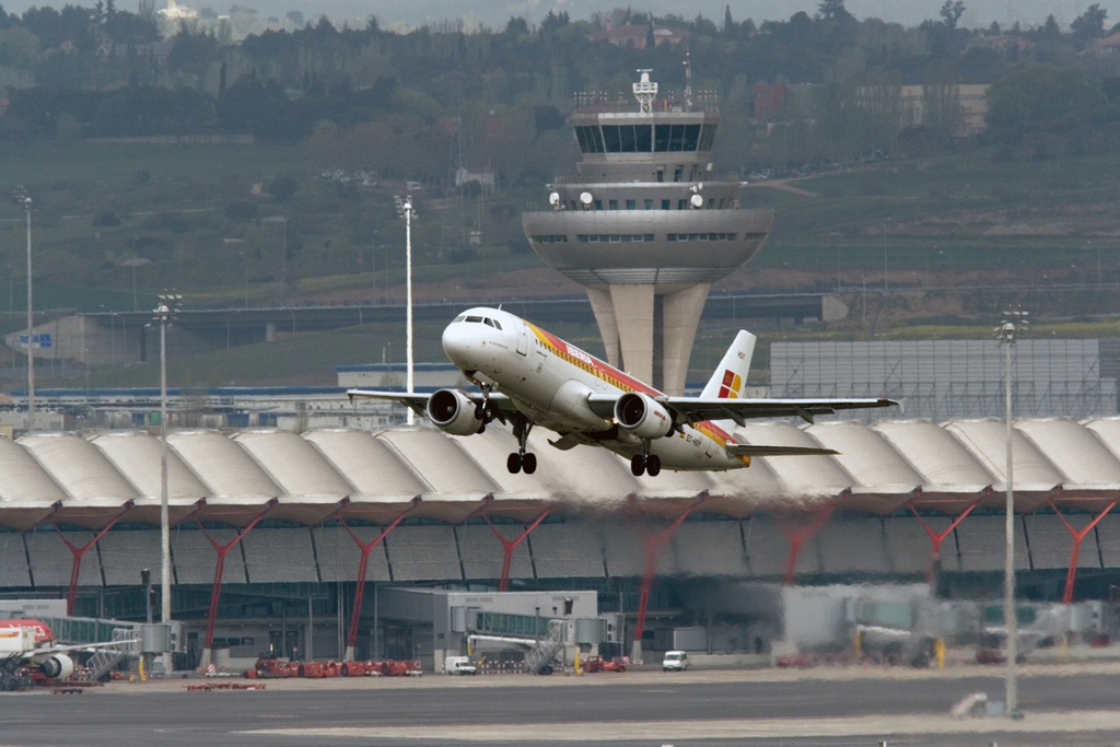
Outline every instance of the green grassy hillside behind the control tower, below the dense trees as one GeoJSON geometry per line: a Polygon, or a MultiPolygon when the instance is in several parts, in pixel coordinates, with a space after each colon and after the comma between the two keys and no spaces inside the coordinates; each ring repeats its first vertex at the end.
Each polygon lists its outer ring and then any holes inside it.
{"type": "MultiPolygon", "coordinates": [[[[0,162],[0,188],[22,187],[34,200],[37,309],[151,308],[155,293],[171,287],[196,307],[403,300],[404,228],[393,196],[404,185],[324,178],[337,165],[304,149],[78,141],[3,144],[0,162]]],[[[980,150],[759,180],[743,190],[743,204],[772,207],[774,232],[715,292],[831,291],[849,306],[846,321],[764,332],[764,340],[974,336],[1007,304],[1112,335],[1093,323],[1118,308],[1118,167],[1120,153],[1000,161],[980,150]]],[[[542,265],[521,232],[521,212],[539,209],[544,194],[542,184],[500,183],[482,200],[424,185],[413,195],[418,300],[580,296],[542,265]],[[480,245],[467,241],[473,230],[480,245]]],[[[26,224],[15,202],[0,204],[0,242],[9,251],[8,262],[0,260],[7,332],[22,327],[26,308],[26,224]]],[[[441,357],[439,326],[418,333],[418,360],[441,357]]],[[[731,332],[706,323],[698,372],[731,332]]],[[[594,329],[561,334],[601,351],[594,329]]],[[[403,330],[371,325],[171,357],[172,381],[333,383],[336,363],[402,360],[403,330]]],[[[90,381],[151,385],[157,376],[130,366],[91,372],[90,381]]]]}

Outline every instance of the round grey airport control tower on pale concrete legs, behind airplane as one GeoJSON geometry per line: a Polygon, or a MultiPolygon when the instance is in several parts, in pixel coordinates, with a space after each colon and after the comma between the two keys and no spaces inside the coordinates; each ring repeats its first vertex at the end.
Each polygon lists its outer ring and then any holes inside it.
{"type": "Polygon", "coordinates": [[[712,179],[713,96],[700,105],[687,84],[681,101],[659,99],[638,73],[636,110],[579,96],[579,176],[521,220],[533,251],[587,288],[609,362],[680,394],[711,283],[762,249],[774,213],[741,208],[738,180],[712,179]]]}

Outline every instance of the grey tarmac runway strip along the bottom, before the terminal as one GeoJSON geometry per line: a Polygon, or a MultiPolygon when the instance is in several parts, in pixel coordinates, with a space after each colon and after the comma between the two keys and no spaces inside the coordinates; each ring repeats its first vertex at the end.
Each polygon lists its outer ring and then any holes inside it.
{"type": "Polygon", "coordinates": [[[0,745],[1113,745],[1120,665],[1030,665],[1021,720],[955,720],[1002,670],[810,669],[582,676],[272,680],[188,692],[198,680],[112,683],[81,695],[0,695],[0,745]]]}

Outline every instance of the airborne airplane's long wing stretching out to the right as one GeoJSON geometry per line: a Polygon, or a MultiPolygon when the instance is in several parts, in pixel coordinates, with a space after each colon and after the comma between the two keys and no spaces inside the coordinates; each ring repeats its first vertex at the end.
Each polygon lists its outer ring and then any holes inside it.
{"type": "MultiPolygon", "coordinates": [[[[597,414],[610,417],[619,395],[592,394],[588,401],[597,414]]],[[[850,400],[737,400],[694,396],[652,398],[670,410],[678,423],[696,423],[703,420],[734,420],[740,426],[758,418],[797,417],[813,422],[816,415],[830,415],[840,410],[862,410],[866,408],[898,407],[894,400],[883,398],[850,400]]],[[[763,455],[758,455],[763,456],[763,455]]]]}

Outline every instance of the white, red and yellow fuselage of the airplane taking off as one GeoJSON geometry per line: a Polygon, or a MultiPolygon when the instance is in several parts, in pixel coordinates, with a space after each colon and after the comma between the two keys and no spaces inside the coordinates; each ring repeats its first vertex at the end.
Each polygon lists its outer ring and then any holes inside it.
{"type": "Polygon", "coordinates": [[[510,398],[530,421],[560,433],[558,445],[597,445],[626,457],[647,450],[666,469],[734,469],[729,427],[676,424],[664,438],[643,439],[589,404],[596,394],[664,395],[589,353],[507,311],[474,308],[444,330],[444,351],[469,379],[510,398]]]}

